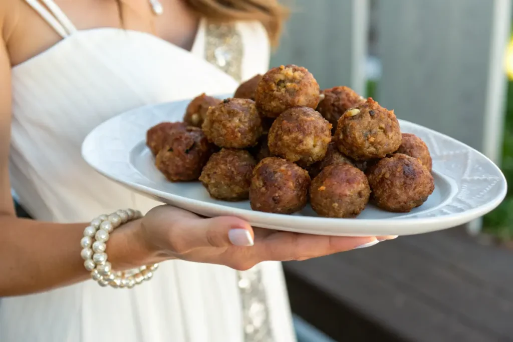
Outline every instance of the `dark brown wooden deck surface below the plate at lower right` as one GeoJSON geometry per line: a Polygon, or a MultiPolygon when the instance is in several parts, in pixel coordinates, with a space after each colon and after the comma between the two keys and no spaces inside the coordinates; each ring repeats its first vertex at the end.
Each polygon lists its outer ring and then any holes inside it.
{"type": "Polygon", "coordinates": [[[284,267],[292,310],[338,341],[513,341],[513,251],[461,228],[284,267]]]}

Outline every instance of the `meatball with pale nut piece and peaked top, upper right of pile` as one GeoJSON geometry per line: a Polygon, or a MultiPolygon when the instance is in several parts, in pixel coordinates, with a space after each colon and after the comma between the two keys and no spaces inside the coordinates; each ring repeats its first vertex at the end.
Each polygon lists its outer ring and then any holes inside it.
{"type": "Polygon", "coordinates": [[[401,129],[393,110],[369,97],[340,117],[334,138],[340,152],[355,160],[383,158],[401,145],[401,129]]]}

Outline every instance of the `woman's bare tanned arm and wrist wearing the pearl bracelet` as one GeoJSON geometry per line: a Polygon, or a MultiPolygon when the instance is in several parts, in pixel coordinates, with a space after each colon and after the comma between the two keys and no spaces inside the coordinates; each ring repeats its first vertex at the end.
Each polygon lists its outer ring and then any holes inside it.
{"type": "MultiPolygon", "coordinates": [[[[1,23],[0,23],[1,24],[1,23]]],[[[5,43],[0,46],[0,297],[49,290],[88,278],[80,256],[87,223],[55,224],[15,217],[9,184],[11,71],[5,43]]],[[[103,213],[98,213],[98,215],[103,213]]],[[[107,214],[107,213],[105,213],[107,214]]],[[[93,219],[94,217],[91,217],[93,219]]],[[[113,267],[129,268],[151,259],[136,235],[139,221],[111,234],[113,267]],[[121,261],[123,260],[123,263],[121,261]]]]}

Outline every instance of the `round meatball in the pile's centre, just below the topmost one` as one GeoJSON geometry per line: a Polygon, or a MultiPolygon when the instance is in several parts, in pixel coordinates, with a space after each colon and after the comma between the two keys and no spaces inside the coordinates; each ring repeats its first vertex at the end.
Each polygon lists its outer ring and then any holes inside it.
{"type": "Polygon", "coordinates": [[[309,107],[291,108],[274,120],[268,140],[272,154],[306,167],[326,155],[331,124],[309,107]]]}

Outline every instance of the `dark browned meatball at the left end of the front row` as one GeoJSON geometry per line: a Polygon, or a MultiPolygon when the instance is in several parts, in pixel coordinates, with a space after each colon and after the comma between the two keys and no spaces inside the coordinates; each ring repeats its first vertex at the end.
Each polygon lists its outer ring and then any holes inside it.
{"type": "Polygon", "coordinates": [[[157,154],[155,165],[171,182],[196,180],[213,152],[213,146],[197,127],[176,131],[157,154]]]}

